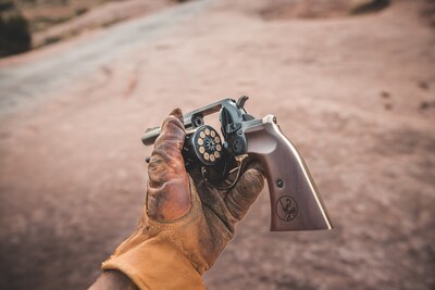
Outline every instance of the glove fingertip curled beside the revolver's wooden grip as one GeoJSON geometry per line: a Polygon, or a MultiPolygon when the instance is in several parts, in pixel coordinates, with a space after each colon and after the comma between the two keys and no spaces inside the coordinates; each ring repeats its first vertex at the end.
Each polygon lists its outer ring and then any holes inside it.
{"type": "Polygon", "coordinates": [[[237,220],[244,218],[263,187],[264,176],[261,165],[258,162],[251,162],[225,198],[226,206],[237,220]]]}

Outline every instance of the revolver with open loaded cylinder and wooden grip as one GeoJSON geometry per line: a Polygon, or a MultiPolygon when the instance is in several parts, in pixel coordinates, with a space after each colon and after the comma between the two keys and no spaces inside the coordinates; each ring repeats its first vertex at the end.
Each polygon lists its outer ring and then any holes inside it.
{"type": "MultiPolygon", "coordinates": [[[[224,99],[185,114],[183,157],[187,172],[200,169],[202,178],[219,189],[233,187],[248,160],[258,160],[268,180],[271,231],[332,229],[326,207],[310,172],[283,134],[274,115],[256,118],[245,110],[248,97],[224,99]],[[204,124],[204,116],[219,113],[221,134],[204,124]],[[226,181],[226,187],[222,184],[226,181]]],[[[150,146],[160,127],[146,130],[150,146]]]]}

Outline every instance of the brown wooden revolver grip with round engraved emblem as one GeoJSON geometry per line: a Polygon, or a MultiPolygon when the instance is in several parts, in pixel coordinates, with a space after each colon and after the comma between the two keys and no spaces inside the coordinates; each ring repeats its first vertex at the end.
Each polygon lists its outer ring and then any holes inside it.
{"type": "Polygon", "coordinates": [[[245,129],[247,153],[259,160],[268,179],[271,231],[332,229],[310,172],[295,146],[268,115],[245,129]]]}

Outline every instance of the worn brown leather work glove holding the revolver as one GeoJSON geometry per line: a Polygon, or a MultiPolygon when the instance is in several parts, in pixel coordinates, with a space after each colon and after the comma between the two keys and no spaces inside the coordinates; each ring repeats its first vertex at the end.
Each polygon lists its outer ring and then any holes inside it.
{"type": "Polygon", "coordinates": [[[163,122],[148,167],[147,201],[137,230],[102,264],[140,289],[204,289],[209,269],[234,236],[234,226],[264,186],[250,164],[231,190],[217,190],[200,174],[186,173],[179,109],[163,122]]]}

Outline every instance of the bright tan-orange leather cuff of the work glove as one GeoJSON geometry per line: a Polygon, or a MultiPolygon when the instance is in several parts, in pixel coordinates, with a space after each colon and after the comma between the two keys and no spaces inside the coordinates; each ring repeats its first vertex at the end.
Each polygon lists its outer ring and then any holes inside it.
{"type": "Polygon", "coordinates": [[[139,228],[102,263],[101,269],[124,273],[140,289],[206,289],[198,266],[179,243],[174,230],[190,232],[198,223],[201,203],[194,188],[191,209],[183,217],[172,220],[152,220],[147,213],[139,228]]]}

